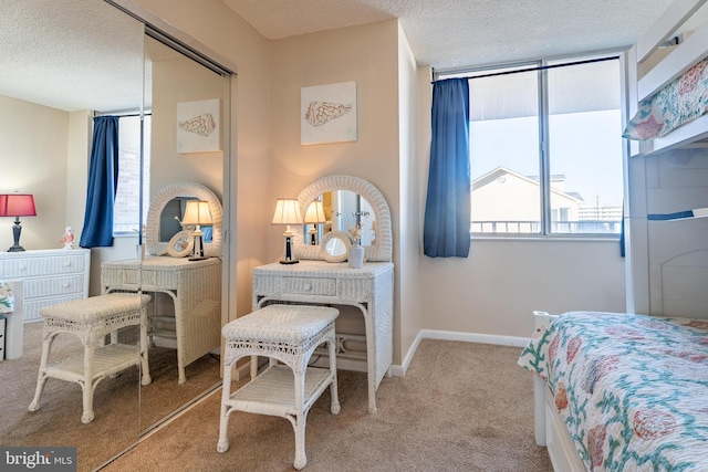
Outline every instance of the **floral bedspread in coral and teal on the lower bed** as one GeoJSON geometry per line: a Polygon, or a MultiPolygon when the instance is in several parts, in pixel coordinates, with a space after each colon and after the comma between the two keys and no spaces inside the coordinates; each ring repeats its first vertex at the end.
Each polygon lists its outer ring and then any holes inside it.
{"type": "Polygon", "coordinates": [[[708,321],[569,312],[519,365],[548,381],[589,471],[708,471],[708,321]]]}

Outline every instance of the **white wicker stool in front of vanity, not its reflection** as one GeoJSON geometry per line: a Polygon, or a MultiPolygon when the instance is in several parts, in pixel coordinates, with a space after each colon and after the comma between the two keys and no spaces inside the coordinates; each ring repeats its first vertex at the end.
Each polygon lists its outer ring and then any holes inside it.
{"type": "Polygon", "coordinates": [[[334,319],[340,312],[325,306],[268,305],[228,323],[226,338],[221,421],[217,451],[229,449],[229,415],[247,411],[287,418],[295,431],[295,469],[308,463],[305,422],[312,403],[330,386],[333,415],[340,412],[336,390],[334,319]],[[310,356],[329,344],[330,368],[308,367],[310,356]],[[269,367],[239,390],[230,394],[231,366],[244,356],[269,357],[269,367]],[[278,360],[288,367],[278,365],[278,360]]]}

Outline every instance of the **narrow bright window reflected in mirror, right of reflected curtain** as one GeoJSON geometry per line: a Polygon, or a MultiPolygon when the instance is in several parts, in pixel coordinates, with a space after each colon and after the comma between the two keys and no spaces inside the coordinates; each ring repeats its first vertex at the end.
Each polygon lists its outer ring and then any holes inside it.
{"type": "MultiPolygon", "coordinates": [[[[143,219],[149,208],[150,116],[144,117],[143,219]]],[[[118,188],[113,204],[113,234],[134,233],[140,227],[140,117],[122,116],[118,125],[118,188]]]]}

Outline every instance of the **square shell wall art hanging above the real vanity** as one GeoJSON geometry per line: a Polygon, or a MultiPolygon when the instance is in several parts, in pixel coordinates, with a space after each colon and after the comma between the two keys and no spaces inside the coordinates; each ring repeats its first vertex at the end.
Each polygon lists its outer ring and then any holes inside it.
{"type": "Polygon", "coordinates": [[[302,87],[300,143],[355,141],[356,82],[302,87]]]}

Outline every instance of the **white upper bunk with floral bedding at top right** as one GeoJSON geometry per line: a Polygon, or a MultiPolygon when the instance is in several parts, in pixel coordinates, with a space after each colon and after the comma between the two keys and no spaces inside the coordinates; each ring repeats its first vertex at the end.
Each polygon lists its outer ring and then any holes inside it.
{"type": "Polygon", "coordinates": [[[708,138],[708,7],[676,0],[627,52],[629,113],[623,137],[650,154],[708,138]]]}

